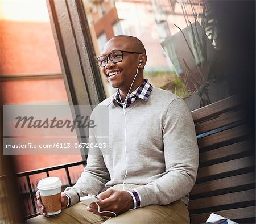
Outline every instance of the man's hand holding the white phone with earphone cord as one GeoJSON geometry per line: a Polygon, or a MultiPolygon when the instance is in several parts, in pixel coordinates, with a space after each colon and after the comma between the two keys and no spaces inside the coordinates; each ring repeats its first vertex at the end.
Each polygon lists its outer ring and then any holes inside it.
{"type": "MultiPolygon", "coordinates": [[[[119,215],[133,208],[134,206],[133,197],[131,197],[131,195],[126,191],[108,189],[105,192],[100,193],[100,195],[97,197],[102,200],[101,202],[97,202],[97,204],[100,206],[100,212],[111,211],[119,215]]],[[[86,210],[101,216],[115,216],[113,213],[108,212],[99,213],[97,204],[90,204],[86,210]]]]}

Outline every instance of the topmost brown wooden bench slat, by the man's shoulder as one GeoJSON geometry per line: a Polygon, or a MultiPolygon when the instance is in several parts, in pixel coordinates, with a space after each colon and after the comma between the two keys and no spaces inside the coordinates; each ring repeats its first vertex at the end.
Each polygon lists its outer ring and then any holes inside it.
{"type": "Polygon", "coordinates": [[[207,117],[218,115],[225,111],[229,111],[231,108],[237,107],[239,105],[239,99],[237,95],[230,96],[229,98],[220,100],[218,102],[206,105],[205,107],[195,109],[192,111],[193,120],[196,122],[204,120],[207,117]]]}

